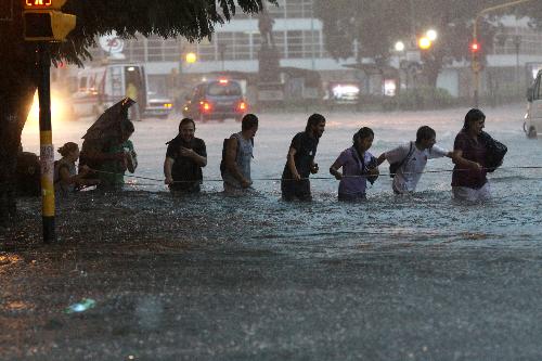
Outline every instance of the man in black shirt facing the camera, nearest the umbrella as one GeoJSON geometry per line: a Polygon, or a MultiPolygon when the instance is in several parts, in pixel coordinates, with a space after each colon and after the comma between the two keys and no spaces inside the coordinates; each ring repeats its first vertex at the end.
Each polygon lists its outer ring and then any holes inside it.
{"type": "Polygon", "coordinates": [[[179,125],[179,134],[166,143],[165,183],[173,194],[199,192],[207,150],[203,140],[194,138],[195,130],[194,120],[184,118],[179,125]]]}

